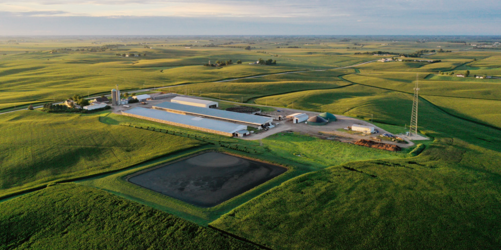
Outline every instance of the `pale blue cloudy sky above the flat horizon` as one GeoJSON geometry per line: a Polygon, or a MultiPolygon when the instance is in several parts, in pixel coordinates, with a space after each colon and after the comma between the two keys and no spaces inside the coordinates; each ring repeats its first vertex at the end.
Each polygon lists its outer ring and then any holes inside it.
{"type": "Polygon", "coordinates": [[[500,0],[0,0],[0,35],[500,35],[500,0]]]}

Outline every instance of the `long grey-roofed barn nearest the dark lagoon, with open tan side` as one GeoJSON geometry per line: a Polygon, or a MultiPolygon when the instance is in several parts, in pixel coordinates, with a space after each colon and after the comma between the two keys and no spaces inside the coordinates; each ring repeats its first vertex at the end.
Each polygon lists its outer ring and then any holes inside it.
{"type": "Polygon", "coordinates": [[[122,111],[123,115],[136,118],[166,123],[169,125],[187,127],[191,129],[201,130],[210,133],[217,133],[226,136],[233,136],[236,133],[242,133],[247,126],[235,124],[226,121],[213,120],[192,115],[184,115],[179,113],[165,112],[162,110],[134,107],[127,111],[122,111]],[[242,131],[242,132],[240,132],[242,131]]]}

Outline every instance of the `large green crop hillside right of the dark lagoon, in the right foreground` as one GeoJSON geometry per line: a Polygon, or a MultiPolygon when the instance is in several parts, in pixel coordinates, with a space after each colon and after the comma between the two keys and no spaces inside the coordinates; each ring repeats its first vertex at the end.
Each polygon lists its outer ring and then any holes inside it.
{"type": "Polygon", "coordinates": [[[499,249],[500,165],[441,138],[417,157],[301,175],[211,225],[273,249],[499,249]]]}

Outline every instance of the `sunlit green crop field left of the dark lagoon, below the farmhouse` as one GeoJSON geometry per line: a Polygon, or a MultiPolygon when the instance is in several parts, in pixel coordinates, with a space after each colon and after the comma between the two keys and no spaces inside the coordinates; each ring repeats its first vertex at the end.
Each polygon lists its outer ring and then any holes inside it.
{"type": "Polygon", "coordinates": [[[112,127],[99,122],[99,114],[19,111],[0,116],[0,196],[203,144],[143,129],[112,127]]]}

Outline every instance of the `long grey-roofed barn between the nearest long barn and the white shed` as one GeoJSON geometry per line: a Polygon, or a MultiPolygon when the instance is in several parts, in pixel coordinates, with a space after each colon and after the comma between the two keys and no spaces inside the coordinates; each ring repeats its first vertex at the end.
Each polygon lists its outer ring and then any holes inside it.
{"type": "Polygon", "coordinates": [[[272,124],[273,121],[272,117],[246,114],[246,113],[237,113],[214,108],[190,106],[168,101],[154,105],[153,108],[172,113],[201,116],[205,118],[223,120],[227,122],[235,122],[254,127],[268,127],[272,124]]]}

